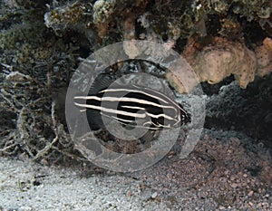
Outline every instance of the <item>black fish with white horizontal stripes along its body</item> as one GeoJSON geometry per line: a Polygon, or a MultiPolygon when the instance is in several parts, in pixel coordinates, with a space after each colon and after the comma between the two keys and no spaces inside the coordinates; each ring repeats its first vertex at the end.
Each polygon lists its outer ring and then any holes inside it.
{"type": "Polygon", "coordinates": [[[189,121],[187,111],[160,91],[138,85],[109,87],[111,82],[98,82],[104,86],[99,91],[95,91],[94,84],[88,96],[74,96],[74,104],[86,110],[92,120],[96,111],[123,126],[145,129],[178,128],[189,121]]]}

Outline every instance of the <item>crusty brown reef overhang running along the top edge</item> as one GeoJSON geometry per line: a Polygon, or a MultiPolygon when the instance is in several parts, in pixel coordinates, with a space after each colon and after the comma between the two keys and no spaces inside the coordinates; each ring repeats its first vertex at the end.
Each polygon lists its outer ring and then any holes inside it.
{"type": "MultiPolygon", "coordinates": [[[[98,35],[95,38],[100,45],[131,37],[162,43],[176,42],[191,34],[204,37],[210,34],[210,26],[219,27],[215,31],[217,35],[241,37],[245,19],[264,28],[271,27],[271,7],[271,1],[267,0],[249,3],[246,0],[97,0],[91,4],[88,1],[73,4],[53,1],[50,11],[44,14],[44,22],[58,35],[65,34],[72,25],[73,30],[81,33],[90,29],[85,34],[98,35]],[[245,17],[243,21],[241,17],[245,17]],[[129,19],[133,33],[123,34],[129,19]],[[215,24],[217,21],[219,23],[215,24]]],[[[90,43],[92,38],[87,38],[90,43]]]]}

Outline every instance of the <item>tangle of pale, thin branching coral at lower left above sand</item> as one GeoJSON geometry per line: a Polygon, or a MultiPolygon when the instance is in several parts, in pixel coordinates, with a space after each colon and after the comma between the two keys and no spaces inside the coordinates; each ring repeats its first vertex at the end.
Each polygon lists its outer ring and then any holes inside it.
{"type": "Polygon", "coordinates": [[[23,150],[34,159],[45,158],[56,151],[69,155],[73,143],[58,121],[51,97],[44,95],[46,86],[21,72],[5,70],[4,75],[0,112],[9,110],[17,119],[14,129],[0,133],[0,153],[14,155],[17,150],[23,150]]]}

